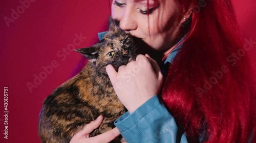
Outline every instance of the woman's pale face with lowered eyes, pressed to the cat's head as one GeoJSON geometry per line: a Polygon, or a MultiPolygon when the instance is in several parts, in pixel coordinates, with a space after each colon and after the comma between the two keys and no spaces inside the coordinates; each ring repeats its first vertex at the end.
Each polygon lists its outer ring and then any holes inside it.
{"type": "Polygon", "coordinates": [[[113,0],[112,18],[126,32],[167,53],[179,38],[182,14],[175,0],[113,0]]]}

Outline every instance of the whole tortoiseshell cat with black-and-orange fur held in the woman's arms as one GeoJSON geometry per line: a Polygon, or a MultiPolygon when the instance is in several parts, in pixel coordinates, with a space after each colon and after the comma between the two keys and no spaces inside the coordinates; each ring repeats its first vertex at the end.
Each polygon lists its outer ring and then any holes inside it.
{"type": "MultiPolygon", "coordinates": [[[[135,60],[131,35],[118,26],[112,26],[103,40],[90,48],[76,51],[85,55],[91,63],[45,99],[38,124],[41,142],[69,142],[82,126],[99,115],[103,115],[104,120],[90,136],[101,134],[114,128],[114,121],[125,112],[105,67],[112,64],[118,69],[135,60]]],[[[120,142],[120,138],[117,140],[120,142]]]]}

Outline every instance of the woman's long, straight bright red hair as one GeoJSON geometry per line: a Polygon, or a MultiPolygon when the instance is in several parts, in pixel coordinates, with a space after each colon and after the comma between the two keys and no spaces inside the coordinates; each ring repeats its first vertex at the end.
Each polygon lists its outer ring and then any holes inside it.
{"type": "MultiPolygon", "coordinates": [[[[198,6],[198,0],[193,2],[198,6]]],[[[256,113],[250,45],[242,39],[230,0],[205,4],[193,12],[191,31],[169,67],[162,99],[188,142],[198,142],[202,130],[205,142],[248,142],[256,113]]]]}

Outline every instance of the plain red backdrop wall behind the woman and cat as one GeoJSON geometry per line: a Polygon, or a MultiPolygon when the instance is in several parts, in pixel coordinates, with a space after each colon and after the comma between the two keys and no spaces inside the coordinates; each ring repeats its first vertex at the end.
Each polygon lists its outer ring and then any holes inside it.
{"type": "MultiPolygon", "coordinates": [[[[22,0],[24,1],[24,0],[22,0]]],[[[31,0],[32,1],[32,0],[31,0]]],[[[35,0],[33,0],[35,1],[35,0]]],[[[233,0],[238,21],[245,38],[256,41],[256,12],[254,0],[233,0]]],[[[0,142],[39,142],[37,123],[42,101],[61,83],[71,77],[81,59],[79,53],[70,52],[63,60],[57,56],[62,48],[73,43],[75,34],[87,37],[75,48],[91,46],[97,33],[106,30],[110,15],[108,0],[81,1],[55,0],[30,3],[8,27],[4,17],[11,18],[19,1],[3,0],[1,7],[1,87],[8,87],[8,139],[4,139],[4,94],[0,98],[0,142]],[[63,61],[61,61],[61,59],[63,61]],[[27,82],[34,83],[56,60],[58,67],[32,92],[27,82]]],[[[256,63],[256,48],[249,51],[256,63]]]]}

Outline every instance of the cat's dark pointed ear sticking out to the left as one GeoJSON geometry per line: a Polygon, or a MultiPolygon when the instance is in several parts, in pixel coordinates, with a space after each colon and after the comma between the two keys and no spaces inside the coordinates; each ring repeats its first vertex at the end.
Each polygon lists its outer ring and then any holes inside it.
{"type": "Polygon", "coordinates": [[[98,46],[92,46],[89,48],[81,48],[81,49],[74,49],[77,52],[82,53],[90,62],[95,62],[98,58],[99,54],[99,47],[98,46]]]}

